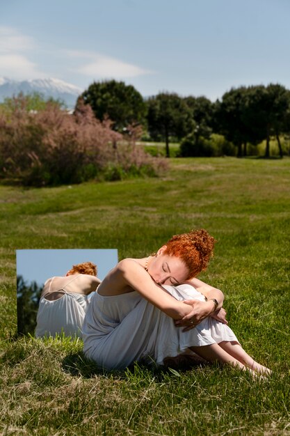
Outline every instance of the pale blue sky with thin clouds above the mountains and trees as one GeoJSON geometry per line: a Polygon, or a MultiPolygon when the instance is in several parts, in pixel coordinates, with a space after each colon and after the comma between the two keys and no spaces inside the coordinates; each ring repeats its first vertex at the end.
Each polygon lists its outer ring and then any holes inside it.
{"type": "Polygon", "coordinates": [[[290,88],[289,0],[9,0],[0,3],[0,76],[81,89],[117,79],[220,98],[232,86],[290,88]]]}

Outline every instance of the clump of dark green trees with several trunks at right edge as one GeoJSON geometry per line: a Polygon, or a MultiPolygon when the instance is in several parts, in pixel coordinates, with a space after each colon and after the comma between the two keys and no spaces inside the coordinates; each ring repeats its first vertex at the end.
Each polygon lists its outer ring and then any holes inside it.
{"type": "Polygon", "coordinates": [[[264,139],[265,157],[269,157],[271,135],[275,135],[282,157],[280,134],[289,132],[290,93],[279,84],[232,88],[216,102],[216,123],[219,131],[238,146],[239,157],[245,155],[247,142],[257,144],[264,139]]]}

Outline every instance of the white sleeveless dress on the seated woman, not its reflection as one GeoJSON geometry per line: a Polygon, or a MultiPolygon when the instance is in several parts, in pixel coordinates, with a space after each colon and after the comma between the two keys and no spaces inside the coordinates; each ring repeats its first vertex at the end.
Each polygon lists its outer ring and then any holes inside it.
{"type": "MultiPolygon", "coordinates": [[[[163,287],[179,301],[205,300],[190,285],[163,287]]],[[[175,357],[192,346],[239,343],[227,325],[211,317],[188,332],[182,329],[136,291],[108,297],[95,293],[83,322],[83,351],[99,367],[122,369],[134,361],[162,364],[166,357],[175,357]]]]}

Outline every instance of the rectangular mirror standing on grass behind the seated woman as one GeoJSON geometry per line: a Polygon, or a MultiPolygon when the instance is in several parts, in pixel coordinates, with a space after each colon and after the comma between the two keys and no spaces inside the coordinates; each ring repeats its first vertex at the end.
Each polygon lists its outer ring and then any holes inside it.
{"type": "MultiPolygon", "coordinates": [[[[31,249],[16,251],[18,334],[43,336],[40,322],[38,322],[35,334],[37,318],[42,324],[44,320],[47,325],[49,322],[53,324],[53,327],[50,327],[51,333],[49,330],[49,334],[46,332],[45,336],[55,336],[55,332],[66,335],[74,332],[72,324],[76,323],[75,316],[78,322],[81,322],[93,294],[90,286],[95,289],[97,281],[95,277],[92,277],[93,272],[86,274],[73,272],[74,276],[72,276],[71,270],[73,265],[88,262],[97,265],[97,278],[102,281],[108,271],[118,263],[118,250],[31,249]],[[67,272],[70,277],[67,277],[67,272]],[[76,275],[81,277],[76,278],[76,275]],[[65,281],[66,279],[70,280],[65,281]],[[86,282],[85,284],[82,284],[82,279],[86,282]],[[64,282],[65,286],[63,286],[64,282]],[[58,295],[56,294],[57,286],[60,288],[58,295]],[[40,297],[41,294],[42,297],[40,297]],[[62,322],[63,325],[61,325],[62,322]],[[70,326],[67,327],[69,324],[70,326]]],[[[81,337],[79,327],[75,331],[76,336],[81,337]]]]}

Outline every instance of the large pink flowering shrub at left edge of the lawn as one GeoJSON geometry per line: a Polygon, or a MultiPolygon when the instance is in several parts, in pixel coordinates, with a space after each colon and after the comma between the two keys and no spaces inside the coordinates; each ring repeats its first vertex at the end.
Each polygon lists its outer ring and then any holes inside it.
{"type": "Polygon", "coordinates": [[[12,111],[0,109],[0,180],[45,186],[158,176],[166,162],[136,146],[139,135],[140,127],[113,131],[88,104],[72,115],[53,102],[31,112],[19,96],[12,111]]]}

